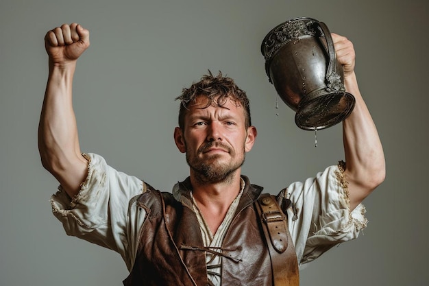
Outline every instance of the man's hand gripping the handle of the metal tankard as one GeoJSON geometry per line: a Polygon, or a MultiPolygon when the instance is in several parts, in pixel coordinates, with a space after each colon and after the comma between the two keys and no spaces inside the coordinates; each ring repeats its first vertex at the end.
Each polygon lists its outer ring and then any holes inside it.
{"type": "Polygon", "coordinates": [[[334,42],[336,60],[343,65],[344,77],[347,78],[348,75],[354,72],[356,54],[354,53],[353,43],[345,36],[334,33],[331,36],[334,42]]]}

